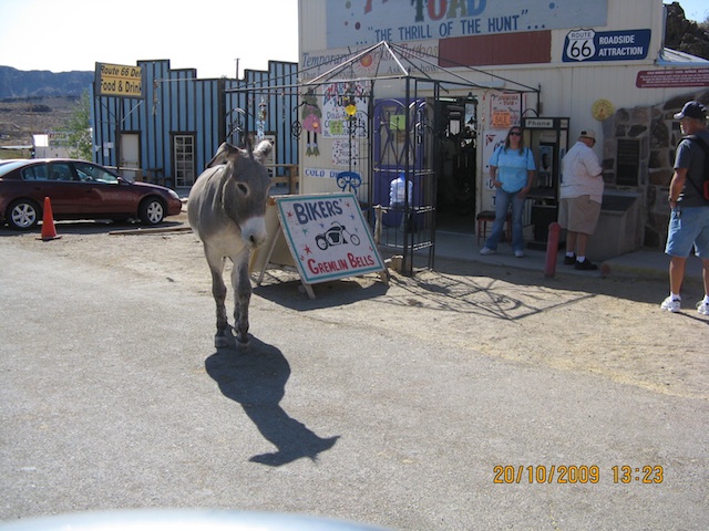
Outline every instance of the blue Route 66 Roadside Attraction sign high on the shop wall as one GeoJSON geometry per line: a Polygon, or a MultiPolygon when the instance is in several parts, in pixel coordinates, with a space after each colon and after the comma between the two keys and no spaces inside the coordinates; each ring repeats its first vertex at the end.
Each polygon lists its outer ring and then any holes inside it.
{"type": "Polygon", "coordinates": [[[565,63],[582,61],[638,61],[647,58],[650,30],[574,30],[564,42],[565,63]]]}

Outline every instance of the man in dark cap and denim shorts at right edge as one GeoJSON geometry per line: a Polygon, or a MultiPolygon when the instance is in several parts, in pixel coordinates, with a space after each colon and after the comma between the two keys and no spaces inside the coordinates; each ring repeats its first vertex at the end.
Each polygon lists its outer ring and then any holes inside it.
{"type": "Polygon", "coordinates": [[[685,138],[677,146],[675,174],[669,184],[669,228],[665,252],[669,254],[669,296],[660,308],[679,312],[680,291],[685,280],[685,266],[693,247],[701,259],[705,298],[697,303],[697,311],[709,315],[709,200],[703,198],[705,152],[691,135],[709,146],[707,110],[699,102],[687,102],[675,115],[685,138]]]}

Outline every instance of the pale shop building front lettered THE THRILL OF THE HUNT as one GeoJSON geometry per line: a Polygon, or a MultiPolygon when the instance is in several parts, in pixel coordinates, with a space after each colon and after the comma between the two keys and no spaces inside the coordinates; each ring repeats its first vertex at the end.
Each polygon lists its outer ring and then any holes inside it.
{"type": "Polygon", "coordinates": [[[531,238],[544,240],[555,220],[561,159],[590,128],[606,194],[589,256],[661,249],[680,138],[671,116],[687,100],[709,101],[709,62],[664,48],[665,14],[661,0],[300,0],[300,90],[320,87],[311,93],[322,119],[317,150],[311,138],[300,138],[301,189],[340,190],[337,176],[356,160],[360,200],[382,201],[373,197],[381,188],[381,122],[370,121],[371,131],[361,135],[370,142],[359,143],[348,159],[342,138],[353,135],[338,135],[342,127],[331,119],[338,98],[328,91],[350,85],[339,94],[340,116],[348,91],[357,94],[358,107],[376,114],[378,102],[408,91],[408,77],[397,75],[403,70],[417,83],[427,76],[441,82],[415,93],[430,107],[431,160],[424,164],[436,179],[441,220],[463,214],[461,230],[472,232],[474,215],[493,209],[487,159],[508,127],[522,124],[538,170],[526,220],[536,226],[531,238]],[[377,43],[391,43],[407,61],[379,61],[380,49],[371,48],[377,43]],[[368,50],[371,56],[357,55],[368,50]],[[345,62],[347,71],[328,77],[345,62]],[[320,84],[326,77],[329,84],[320,84]]]}

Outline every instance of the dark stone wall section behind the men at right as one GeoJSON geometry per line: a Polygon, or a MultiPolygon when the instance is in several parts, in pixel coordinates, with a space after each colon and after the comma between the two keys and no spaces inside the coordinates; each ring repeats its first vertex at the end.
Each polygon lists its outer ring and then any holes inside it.
{"type": "Polygon", "coordinates": [[[709,105],[709,91],[687,93],[653,107],[618,108],[603,122],[604,180],[606,190],[636,192],[639,208],[637,235],[639,244],[662,250],[667,240],[669,206],[667,194],[672,178],[677,143],[681,138],[679,122],[672,118],[689,100],[709,105]],[[618,140],[635,140],[639,150],[638,174],[623,175],[618,160],[618,140]],[[628,180],[635,185],[624,184],[628,180]]]}

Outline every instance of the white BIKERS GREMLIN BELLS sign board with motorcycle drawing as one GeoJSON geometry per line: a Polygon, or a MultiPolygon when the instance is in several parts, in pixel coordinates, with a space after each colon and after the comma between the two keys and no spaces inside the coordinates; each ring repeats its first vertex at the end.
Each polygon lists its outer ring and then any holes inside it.
{"type": "Polygon", "coordinates": [[[386,270],[353,194],[276,197],[284,235],[309,284],[386,270]]]}

